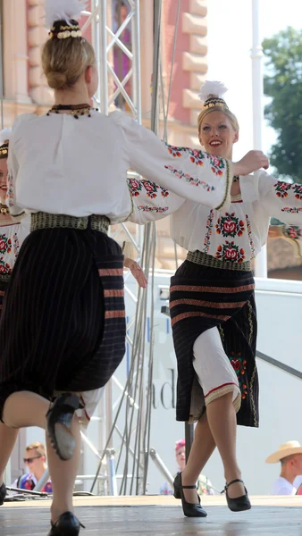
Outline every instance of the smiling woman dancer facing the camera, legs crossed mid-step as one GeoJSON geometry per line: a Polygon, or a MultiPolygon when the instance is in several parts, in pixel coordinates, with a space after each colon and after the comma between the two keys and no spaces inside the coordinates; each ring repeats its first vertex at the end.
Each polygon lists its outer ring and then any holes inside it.
{"type": "MultiPolygon", "coordinates": [[[[222,99],[225,88],[206,82],[198,116],[200,144],[216,158],[232,158],[239,124],[222,99]]],[[[219,172],[218,172],[219,174],[219,172]]],[[[217,176],[218,176],[217,174],[217,176]]],[[[256,306],[250,262],[267,238],[270,216],[302,222],[302,186],[266,172],[234,173],[239,195],[231,208],[185,201],[172,214],[172,238],[189,253],[172,277],[170,310],[178,361],[177,419],[197,422],[188,464],[174,481],[185,515],[205,516],[194,490],[217,446],[233,511],[250,502],[236,456],[237,423],[256,427],[256,306]],[[237,414],[237,422],[236,422],[237,414]]]]}

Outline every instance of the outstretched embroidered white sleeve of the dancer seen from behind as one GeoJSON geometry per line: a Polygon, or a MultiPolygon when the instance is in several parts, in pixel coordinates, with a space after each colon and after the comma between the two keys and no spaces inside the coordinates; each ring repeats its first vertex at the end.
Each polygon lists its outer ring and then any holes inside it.
{"type": "Polygon", "coordinates": [[[110,117],[121,129],[121,150],[130,169],[185,199],[217,209],[230,205],[230,161],[189,147],[172,147],[125,113],[113,112],[110,117]]]}

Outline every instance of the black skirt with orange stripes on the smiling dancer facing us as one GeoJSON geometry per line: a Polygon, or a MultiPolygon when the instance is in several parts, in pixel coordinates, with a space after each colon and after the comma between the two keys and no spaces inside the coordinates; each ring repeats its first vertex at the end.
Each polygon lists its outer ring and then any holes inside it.
{"type": "Polygon", "coordinates": [[[197,383],[193,367],[194,342],[206,330],[217,327],[224,352],[239,381],[241,406],[237,422],[258,426],[254,288],[251,272],[206,267],[189,261],[181,264],[172,277],[170,313],[178,364],[178,421],[190,419],[192,389],[197,383]]]}

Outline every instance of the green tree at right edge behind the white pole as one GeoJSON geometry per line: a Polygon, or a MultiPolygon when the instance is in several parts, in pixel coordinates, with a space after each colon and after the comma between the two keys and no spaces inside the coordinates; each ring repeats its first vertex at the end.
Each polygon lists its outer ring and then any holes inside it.
{"type": "Polygon", "coordinates": [[[264,115],[276,130],[271,163],[280,177],[302,182],[302,29],[287,28],[264,39],[264,115]]]}

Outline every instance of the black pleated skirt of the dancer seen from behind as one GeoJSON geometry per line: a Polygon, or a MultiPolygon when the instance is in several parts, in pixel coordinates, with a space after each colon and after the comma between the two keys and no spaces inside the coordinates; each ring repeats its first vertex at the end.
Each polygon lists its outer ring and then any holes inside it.
{"type": "Polygon", "coordinates": [[[0,417],[14,391],[99,389],[125,351],[123,255],[97,230],[34,230],[0,322],[0,417]]]}

